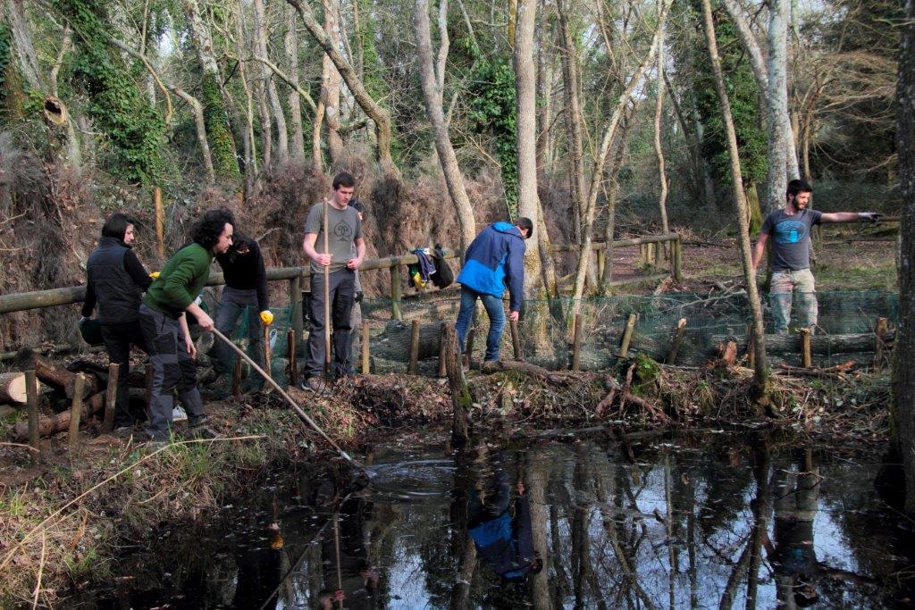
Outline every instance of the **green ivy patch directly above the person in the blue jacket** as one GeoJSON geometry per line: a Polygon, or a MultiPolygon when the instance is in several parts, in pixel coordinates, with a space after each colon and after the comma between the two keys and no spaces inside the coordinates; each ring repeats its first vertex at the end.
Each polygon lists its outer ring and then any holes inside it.
{"type": "Polygon", "coordinates": [[[515,75],[504,57],[479,58],[468,79],[468,120],[471,130],[492,134],[502,166],[502,183],[511,218],[518,215],[518,155],[515,131],[515,75]]]}

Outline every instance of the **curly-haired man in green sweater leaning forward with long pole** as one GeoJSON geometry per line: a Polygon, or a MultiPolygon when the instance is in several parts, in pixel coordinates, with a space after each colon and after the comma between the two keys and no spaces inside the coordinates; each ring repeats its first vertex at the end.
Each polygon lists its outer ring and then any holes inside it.
{"type": "Polygon", "coordinates": [[[146,436],[167,442],[171,434],[172,392],[188,412],[188,428],[206,422],[203,401],[197,389],[197,348],[188,332],[186,313],[197,318],[206,331],[213,320],[196,299],[210,277],[213,257],[229,249],[235,220],[227,209],[210,209],[190,230],[191,243],[169,260],[156,281],[149,286],[140,305],[140,327],[153,366],[152,396],[146,436]]]}

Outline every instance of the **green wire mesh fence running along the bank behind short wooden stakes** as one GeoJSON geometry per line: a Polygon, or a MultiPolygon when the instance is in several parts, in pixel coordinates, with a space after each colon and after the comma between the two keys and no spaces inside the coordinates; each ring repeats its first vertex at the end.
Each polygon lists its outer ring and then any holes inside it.
{"type": "MultiPolygon", "coordinates": [[[[819,324],[813,341],[813,365],[832,366],[849,359],[867,361],[872,358],[874,341],[858,337],[856,342],[834,341],[834,336],[866,336],[873,333],[878,317],[888,318],[895,326],[898,319],[899,295],[885,291],[821,292],[819,324]]],[[[414,321],[418,324],[417,373],[436,376],[442,322],[454,322],[458,316],[460,294],[446,290],[419,298],[404,299],[400,304],[401,319],[394,319],[391,300],[364,299],[352,329],[350,361],[354,370],[361,369],[361,326],[368,327],[370,369],[373,373],[405,373],[410,362],[414,321]]],[[[573,337],[567,322],[571,299],[528,300],[518,324],[521,357],[545,369],[567,369],[571,364],[573,337]]],[[[215,300],[206,300],[204,307],[215,311],[215,300]]],[[[297,342],[297,360],[301,369],[307,359],[308,304],[303,304],[303,337],[297,342]]],[[[294,327],[291,307],[274,307],[271,326],[271,372],[274,380],[285,383],[288,370],[287,333],[294,327]]],[[[767,332],[772,332],[770,305],[764,304],[767,332]]],[[[719,344],[728,340],[737,343],[738,357],[747,351],[749,304],[746,294],[662,294],[620,295],[583,299],[580,305],[581,338],[579,367],[599,370],[613,367],[619,360],[620,343],[630,315],[635,315],[629,353],[643,353],[665,361],[670,355],[673,334],[680,319],[685,319],[684,336],[677,350],[675,364],[699,365],[715,359],[719,344]]],[[[236,327],[233,339],[242,348],[249,348],[248,318],[236,327]]],[[[486,346],[489,319],[482,305],[468,334],[472,359],[480,361],[486,346]],[[472,346],[470,341],[472,340],[472,346]]],[[[796,337],[796,335],[795,335],[796,337]]],[[[786,339],[777,348],[770,348],[773,365],[781,362],[801,364],[800,339],[786,339]],[[787,347],[786,347],[787,346],[787,347]]],[[[515,358],[510,327],[506,324],[501,336],[502,359],[515,358]]]]}

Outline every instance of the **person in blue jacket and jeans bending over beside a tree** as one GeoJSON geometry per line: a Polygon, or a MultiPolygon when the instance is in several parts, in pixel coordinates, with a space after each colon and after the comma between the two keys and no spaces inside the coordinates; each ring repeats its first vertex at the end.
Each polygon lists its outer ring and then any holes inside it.
{"type": "Polygon", "coordinates": [[[517,321],[524,295],[524,240],[531,237],[533,222],[519,218],[511,222],[494,222],[479,232],[464,255],[464,267],[458,273],[460,284],[460,311],[455,329],[461,350],[477,299],[490,316],[490,334],[486,337],[485,360],[499,359],[499,343],[505,329],[505,310],[502,293],[508,286],[509,317],[517,321]]]}

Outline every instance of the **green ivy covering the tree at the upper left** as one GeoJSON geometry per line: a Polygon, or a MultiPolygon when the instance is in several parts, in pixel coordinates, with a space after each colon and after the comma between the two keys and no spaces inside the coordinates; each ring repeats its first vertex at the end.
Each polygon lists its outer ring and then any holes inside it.
{"type": "Polygon", "coordinates": [[[113,147],[113,169],[129,182],[153,184],[163,176],[165,123],[108,44],[104,0],[56,0],[75,31],[73,78],[87,98],[86,112],[113,147]]]}

